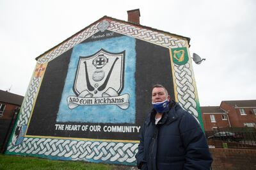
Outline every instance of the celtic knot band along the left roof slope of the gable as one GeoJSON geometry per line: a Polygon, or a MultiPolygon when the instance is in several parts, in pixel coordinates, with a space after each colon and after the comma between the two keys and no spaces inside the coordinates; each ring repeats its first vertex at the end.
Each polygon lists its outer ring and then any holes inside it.
{"type": "Polygon", "coordinates": [[[56,49],[51,50],[51,52],[47,52],[44,56],[38,59],[37,63],[42,64],[46,63],[48,61],[51,61],[52,59],[60,56],[67,50],[71,49],[78,43],[83,42],[83,40],[86,40],[89,36],[92,36],[93,34],[97,33],[99,29],[97,26],[99,25],[99,22],[97,24],[94,24],[93,26],[89,27],[88,29],[85,29],[81,33],[79,33],[76,36],[73,36],[67,42],[61,43],[56,49]]]}

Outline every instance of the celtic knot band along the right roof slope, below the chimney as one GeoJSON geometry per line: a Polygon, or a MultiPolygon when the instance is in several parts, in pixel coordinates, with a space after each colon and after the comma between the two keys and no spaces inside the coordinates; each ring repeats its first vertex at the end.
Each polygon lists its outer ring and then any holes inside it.
{"type": "Polygon", "coordinates": [[[184,47],[186,45],[185,40],[121,22],[111,21],[108,29],[123,35],[133,36],[134,38],[145,40],[150,43],[156,43],[157,45],[161,45],[163,47],[176,48],[184,47]]]}

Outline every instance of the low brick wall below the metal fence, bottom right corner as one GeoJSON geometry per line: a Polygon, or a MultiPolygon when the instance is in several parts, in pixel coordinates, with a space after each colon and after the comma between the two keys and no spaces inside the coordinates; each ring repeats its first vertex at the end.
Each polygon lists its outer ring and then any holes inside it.
{"type": "Polygon", "coordinates": [[[256,169],[256,150],[210,148],[212,169],[256,169]]]}

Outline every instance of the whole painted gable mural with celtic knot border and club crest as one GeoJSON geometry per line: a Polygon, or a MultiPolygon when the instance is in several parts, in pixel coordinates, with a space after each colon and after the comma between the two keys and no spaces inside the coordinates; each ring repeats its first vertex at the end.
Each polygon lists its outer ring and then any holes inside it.
{"type": "Polygon", "coordinates": [[[103,17],[38,58],[6,153],[134,166],[157,83],[202,125],[188,40],[103,17]]]}

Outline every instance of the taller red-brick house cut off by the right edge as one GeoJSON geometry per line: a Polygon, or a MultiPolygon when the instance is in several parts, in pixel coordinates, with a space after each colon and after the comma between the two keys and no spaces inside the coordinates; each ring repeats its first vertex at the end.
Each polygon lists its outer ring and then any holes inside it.
{"type": "Polygon", "coordinates": [[[227,112],[231,127],[255,127],[256,100],[222,101],[220,108],[227,112]]]}

